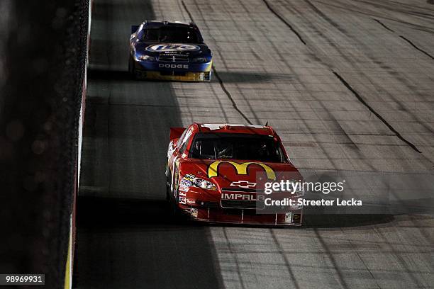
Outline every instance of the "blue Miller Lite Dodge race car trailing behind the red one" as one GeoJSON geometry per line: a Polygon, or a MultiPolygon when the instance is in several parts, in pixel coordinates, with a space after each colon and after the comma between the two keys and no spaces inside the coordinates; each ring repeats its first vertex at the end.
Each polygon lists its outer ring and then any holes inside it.
{"type": "Polygon", "coordinates": [[[145,21],[131,26],[128,71],[133,77],[210,81],[212,53],[194,23],[145,21]]]}

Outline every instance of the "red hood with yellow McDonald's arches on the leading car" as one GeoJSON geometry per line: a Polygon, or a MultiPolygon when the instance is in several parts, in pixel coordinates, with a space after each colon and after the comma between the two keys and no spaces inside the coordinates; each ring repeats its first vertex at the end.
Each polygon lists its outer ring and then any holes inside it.
{"type": "Polygon", "coordinates": [[[182,175],[191,174],[221,188],[258,188],[265,181],[299,180],[301,174],[290,163],[189,159],[180,162],[182,175]]]}

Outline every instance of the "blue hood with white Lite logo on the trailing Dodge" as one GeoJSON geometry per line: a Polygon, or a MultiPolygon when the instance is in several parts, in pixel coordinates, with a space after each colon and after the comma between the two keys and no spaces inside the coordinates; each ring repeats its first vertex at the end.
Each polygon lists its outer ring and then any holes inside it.
{"type": "Polygon", "coordinates": [[[211,50],[206,44],[136,42],[135,50],[140,54],[151,56],[163,53],[187,55],[189,57],[211,57],[211,50]]]}

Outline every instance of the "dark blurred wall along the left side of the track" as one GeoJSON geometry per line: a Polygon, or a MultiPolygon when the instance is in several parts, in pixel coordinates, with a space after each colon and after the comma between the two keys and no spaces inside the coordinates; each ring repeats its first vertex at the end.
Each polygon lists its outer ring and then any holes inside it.
{"type": "Polygon", "coordinates": [[[0,3],[0,273],[62,288],[88,0],[0,3]]]}

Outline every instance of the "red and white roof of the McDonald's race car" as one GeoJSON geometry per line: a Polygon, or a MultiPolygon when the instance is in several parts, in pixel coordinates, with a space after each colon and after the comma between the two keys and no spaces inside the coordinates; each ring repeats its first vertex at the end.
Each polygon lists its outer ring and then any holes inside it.
{"type": "Polygon", "coordinates": [[[199,132],[231,132],[250,135],[274,135],[274,130],[265,125],[243,125],[234,123],[197,123],[199,132]]]}

